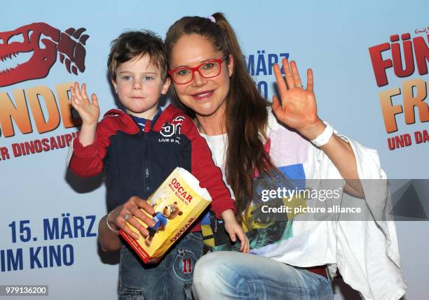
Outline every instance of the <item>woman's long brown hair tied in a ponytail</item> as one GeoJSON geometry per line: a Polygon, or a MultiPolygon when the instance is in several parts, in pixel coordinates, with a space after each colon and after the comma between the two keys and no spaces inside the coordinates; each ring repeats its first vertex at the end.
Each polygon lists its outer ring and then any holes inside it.
{"type": "MultiPolygon", "coordinates": [[[[222,13],[214,13],[212,17],[216,22],[206,17],[182,17],[168,29],[165,45],[170,62],[172,48],[179,38],[187,34],[198,34],[207,38],[215,49],[222,52],[227,57],[227,63],[229,55],[233,57],[233,74],[225,101],[225,125],[229,137],[225,172],[226,180],[236,196],[236,217],[241,221],[242,213],[249,208],[249,199],[252,199],[254,170],[258,170],[261,175],[268,173],[271,176],[276,169],[268,153],[264,151],[262,141],[267,138],[266,107],[269,102],[261,97],[245,68],[243,53],[229,22],[222,13]]],[[[184,109],[193,115],[189,108],[184,109]]]]}

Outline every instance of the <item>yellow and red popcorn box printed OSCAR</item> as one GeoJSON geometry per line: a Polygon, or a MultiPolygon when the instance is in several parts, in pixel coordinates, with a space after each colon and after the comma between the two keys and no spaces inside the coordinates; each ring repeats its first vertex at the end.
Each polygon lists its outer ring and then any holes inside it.
{"type": "MultiPolygon", "coordinates": [[[[186,229],[191,227],[212,198],[189,171],[176,168],[147,201],[155,209],[155,215],[151,217],[156,224],[154,227],[148,227],[147,224],[139,222],[149,230],[149,235],[135,240],[122,230],[119,233],[143,262],[156,263],[186,229]]],[[[139,234],[131,224],[128,226],[139,234]]]]}

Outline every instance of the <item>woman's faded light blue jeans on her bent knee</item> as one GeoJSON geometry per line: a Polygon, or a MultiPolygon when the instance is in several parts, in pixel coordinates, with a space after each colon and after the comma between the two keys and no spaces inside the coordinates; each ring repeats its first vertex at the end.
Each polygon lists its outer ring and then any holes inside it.
{"type": "Polygon", "coordinates": [[[193,273],[193,296],[220,299],[332,300],[330,281],[274,259],[240,252],[204,255],[193,273]]]}

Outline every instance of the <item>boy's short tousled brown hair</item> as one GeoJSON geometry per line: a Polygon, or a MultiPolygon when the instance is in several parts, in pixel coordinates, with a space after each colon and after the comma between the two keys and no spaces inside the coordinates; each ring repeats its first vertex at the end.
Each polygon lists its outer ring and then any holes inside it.
{"type": "Polygon", "coordinates": [[[160,36],[149,30],[125,31],[111,42],[107,59],[111,79],[116,81],[116,71],[121,64],[143,55],[149,55],[149,62],[160,69],[164,81],[168,71],[164,43],[160,36]]]}

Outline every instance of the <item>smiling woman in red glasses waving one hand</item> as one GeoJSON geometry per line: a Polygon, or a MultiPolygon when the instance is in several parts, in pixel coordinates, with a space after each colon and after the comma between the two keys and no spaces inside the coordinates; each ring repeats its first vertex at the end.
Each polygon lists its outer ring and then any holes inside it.
{"type": "Polygon", "coordinates": [[[385,178],[373,150],[340,138],[320,120],[311,69],[304,88],[296,63],[282,60],[285,79],[274,66],[280,92],[272,105],[277,122],[245,69],[224,15],[183,17],[170,27],[165,43],[175,94],[195,115],[214,162],[223,169],[236,196],[236,217],[253,248],[253,255],[213,252],[200,259],[193,276],[194,296],[332,299],[328,277],[338,267],[346,283],[365,298],[400,298],[404,283],[393,224],[382,224],[381,231],[374,222],[362,222],[375,237],[370,241],[375,255],[369,255],[363,238],[346,223],[285,220],[261,226],[252,220],[255,178],[347,178],[344,191],[355,197],[367,191],[359,178],[385,178]],[[261,231],[271,234],[269,241],[261,241],[261,231]],[[257,241],[252,243],[252,238],[257,241]]]}

